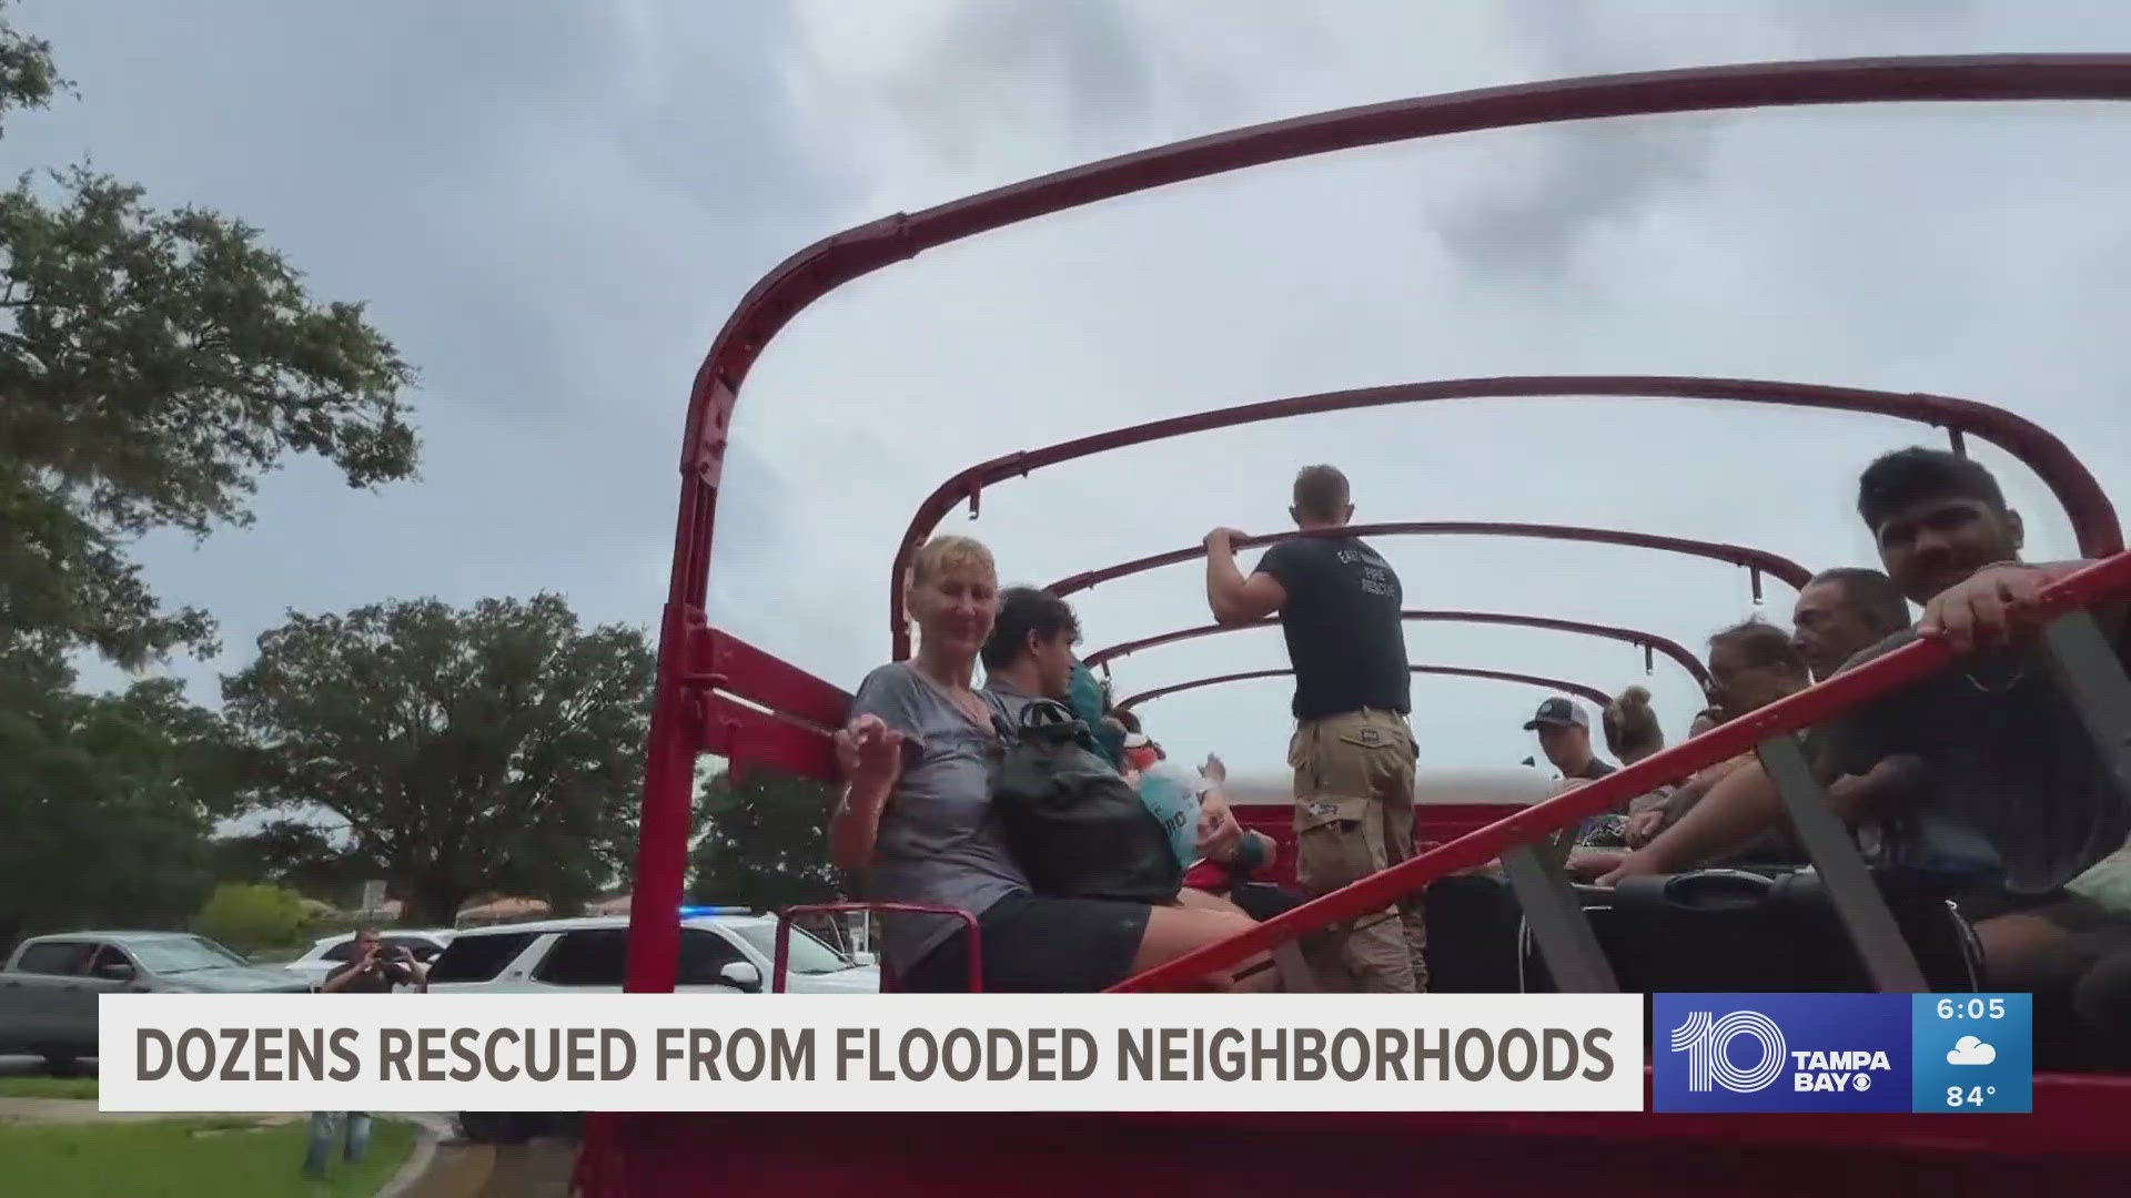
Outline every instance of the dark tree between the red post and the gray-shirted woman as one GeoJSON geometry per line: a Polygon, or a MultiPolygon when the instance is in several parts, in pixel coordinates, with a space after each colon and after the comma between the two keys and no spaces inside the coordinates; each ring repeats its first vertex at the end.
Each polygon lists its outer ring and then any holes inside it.
{"type": "Polygon", "coordinates": [[[703,836],[693,853],[688,895],[701,904],[782,908],[833,902],[829,808],[835,791],[812,778],[748,770],[735,784],[718,774],[703,789],[703,836]]]}

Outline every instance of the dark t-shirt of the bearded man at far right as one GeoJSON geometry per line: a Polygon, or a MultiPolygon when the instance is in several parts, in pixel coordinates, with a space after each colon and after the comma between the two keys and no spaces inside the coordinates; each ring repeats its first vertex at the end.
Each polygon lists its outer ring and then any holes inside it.
{"type": "MultiPolygon", "coordinates": [[[[1894,633],[1850,667],[1912,640],[1894,633]]],[[[2063,887],[2131,833],[2131,802],[2039,648],[1956,659],[1897,686],[1828,721],[1824,748],[1841,774],[1920,757],[1897,859],[2003,874],[2018,895],[2063,887]]]]}

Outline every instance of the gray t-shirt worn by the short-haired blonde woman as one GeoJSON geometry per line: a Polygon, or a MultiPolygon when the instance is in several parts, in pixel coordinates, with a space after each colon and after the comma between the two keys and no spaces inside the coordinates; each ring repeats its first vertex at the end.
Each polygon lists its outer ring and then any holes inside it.
{"type": "MultiPolygon", "coordinates": [[[[978,691],[997,718],[1006,699],[978,691]]],[[[970,723],[940,686],[910,663],[882,665],[865,676],[852,714],[880,716],[916,748],[906,748],[904,774],[880,812],[867,893],[882,902],[957,906],[982,914],[997,900],[1027,891],[991,812],[991,770],[999,759],[995,733],[970,723]]],[[[908,972],[944,942],[959,921],[931,914],[882,919],[889,968],[908,972]]]]}

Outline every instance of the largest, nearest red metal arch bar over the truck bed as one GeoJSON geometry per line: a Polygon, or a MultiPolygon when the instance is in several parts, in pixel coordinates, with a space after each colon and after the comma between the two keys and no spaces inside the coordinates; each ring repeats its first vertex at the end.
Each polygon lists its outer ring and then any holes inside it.
{"type": "MultiPolygon", "coordinates": [[[[1125,153],[921,213],[876,220],[793,254],[763,275],[727,318],[688,396],[673,571],[658,622],[658,680],[644,770],[644,819],[637,831],[624,989],[671,991],[680,955],[680,923],[671,912],[680,904],[686,878],[688,806],[695,759],[701,752],[699,721],[707,714],[701,686],[693,680],[699,669],[690,654],[690,629],[705,625],[703,597],[710,588],[712,533],[733,407],[769,339],[803,307],[837,286],[923,249],[1014,222],[1185,179],[1362,145],[1485,128],[1767,104],[2125,98],[2131,98],[2131,55],[1779,62],[1483,87],[1340,109],[1125,153]]],[[[1986,416],[1986,420],[2001,418],[1986,416]]],[[[2069,465],[2076,473],[2067,475],[2061,469],[2039,469],[2039,473],[2059,488],[2059,497],[2073,512],[2082,546],[2088,544],[2086,537],[2114,531],[2114,512],[2108,509],[2099,488],[2063,490],[2086,475],[2063,446],[2054,439],[2050,446],[2059,452],[2054,467],[2069,465]]],[[[2110,539],[2120,541],[2120,533],[2110,539]]]]}

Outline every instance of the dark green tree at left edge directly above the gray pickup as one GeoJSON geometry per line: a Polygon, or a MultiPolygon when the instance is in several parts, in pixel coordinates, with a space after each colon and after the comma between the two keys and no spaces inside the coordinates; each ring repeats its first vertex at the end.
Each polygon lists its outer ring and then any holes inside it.
{"type": "Polygon", "coordinates": [[[0,654],[0,921],[179,927],[237,778],[226,729],[177,682],[77,695],[55,654],[0,654]]]}

